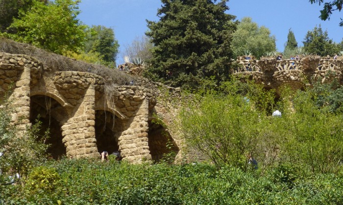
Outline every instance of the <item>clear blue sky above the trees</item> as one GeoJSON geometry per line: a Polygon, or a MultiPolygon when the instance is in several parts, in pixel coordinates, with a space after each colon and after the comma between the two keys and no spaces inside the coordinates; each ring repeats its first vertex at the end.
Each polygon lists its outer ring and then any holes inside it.
{"type": "MultiPolygon", "coordinates": [[[[160,0],[82,0],[78,18],[87,25],[113,28],[122,51],[135,37],[144,35],[146,19],[158,21],[156,13],[161,4],[160,0]]],[[[322,5],[308,0],[230,0],[227,5],[230,8],[227,13],[235,15],[236,20],[251,17],[259,26],[269,28],[278,51],[283,51],[290,28],[299,46],[307,31],[319,24],[333,41],[341,42],[343,38],[343,27],[338,25],[343,12],[334,12],[330,21],[321,21],[318,17],[322,5]]],[[[117,64],[122,62],[119,54],[117,64]]]]}

